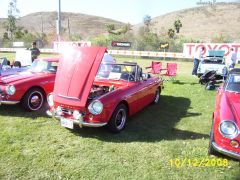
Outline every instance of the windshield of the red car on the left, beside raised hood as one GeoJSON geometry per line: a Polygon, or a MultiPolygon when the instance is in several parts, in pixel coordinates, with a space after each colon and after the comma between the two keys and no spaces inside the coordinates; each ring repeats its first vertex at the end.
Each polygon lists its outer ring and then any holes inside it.
{"type": "Polygon", "coordinates": [[[46,60],[35,60],[30,68],[32,72],[56,72],[58,62],[46,61],[46,60]]]}

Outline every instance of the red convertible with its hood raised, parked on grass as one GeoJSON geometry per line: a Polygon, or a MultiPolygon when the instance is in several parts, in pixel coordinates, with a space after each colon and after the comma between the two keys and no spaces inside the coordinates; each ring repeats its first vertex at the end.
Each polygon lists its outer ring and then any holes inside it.
{"type": "Polygon", "coordinates": [[[60,119],[62,126],[107,125],[120,132],[128,116],[159,101],[159,78],[143,74],[136,63],[101,64],[105,52],[104,47],[80,47],[61,59],[47,114],[60,119]]]}

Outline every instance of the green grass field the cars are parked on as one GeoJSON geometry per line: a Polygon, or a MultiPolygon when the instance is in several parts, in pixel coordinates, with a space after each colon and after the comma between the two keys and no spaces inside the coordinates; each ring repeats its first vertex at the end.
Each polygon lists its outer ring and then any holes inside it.
{"type": "Polygon", "coordinates": [[[177,63],[160,103],[131,117],[120,134],[68,130],[44,112],[0,106],[0,179],[240,179],[239,162],[207,155],[216,91],[190,75],[192,62],[177,63]]]}

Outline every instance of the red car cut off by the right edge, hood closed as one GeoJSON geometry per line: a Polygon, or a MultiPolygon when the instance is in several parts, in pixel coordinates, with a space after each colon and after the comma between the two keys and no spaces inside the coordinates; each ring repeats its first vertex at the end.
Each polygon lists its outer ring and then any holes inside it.
{"type": "Polygon", "coordinates": [[[232,69],[219,88],[213,113],[209,154],[240,160],[240,69],[232,69]]]}

